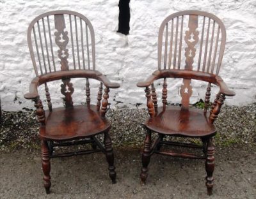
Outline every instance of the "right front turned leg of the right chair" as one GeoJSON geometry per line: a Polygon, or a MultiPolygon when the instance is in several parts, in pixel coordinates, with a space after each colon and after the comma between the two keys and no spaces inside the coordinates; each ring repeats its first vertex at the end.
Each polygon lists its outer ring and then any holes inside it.
{"type": "Polygon", "coordinates": [[[207,176],[205,178],[206,182],[205,185],[207,187],[207,194],[208,195],[212,195],[212,188],[213,188],[213,181],[214,178],[212,177],[212,173],[214,172],[214,144],[213,144],[213,140],[212,138],[209,138],[209,140],[207,140],[207,157],[205,160],[205,170],[207,173],[207,176]]]}

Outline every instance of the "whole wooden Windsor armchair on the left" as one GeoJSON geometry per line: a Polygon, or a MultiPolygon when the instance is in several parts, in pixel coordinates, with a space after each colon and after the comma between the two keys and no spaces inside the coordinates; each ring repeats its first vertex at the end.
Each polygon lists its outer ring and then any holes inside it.
{"type": "Polygon", "coordinates": [[[109,177],[115,183],[114,155],[108,133],[111,124],[106,118],[106,112],[109,88],[115,89],[120,85],[109,82],[106,76],[95,70],[95,35],[91,22],[75,11],[44,13],[36,17],[28,27],[28,46],[36,77],[31,81],[29,92],[24,98],[35,101],[40,122],[39,137],[46,193],[49,193],[51,187],[50,159],[57,157],[103,152],[108,161],[109,177]],[[71,78],[86,78],[86,105],[73,105],[74,87],[71,78]],[[89,79],[99,80],[96,105],[90,103],[89,79]],[[47,82],[54,80],[63,83],[60,88],[65,102],[63,108],[52,108],[47,82]],[[42,84],[45,86],[49,110],[44,110],[38,94],[38,87],[42,84]],[[105,89],[102,99],[103,85],[105,89]],[[104,134],[104,145],[95,136],[99,134],[104,134]],[[56,153],[56,147],[80,144],[91,144],[92,149],[56,153]]]}

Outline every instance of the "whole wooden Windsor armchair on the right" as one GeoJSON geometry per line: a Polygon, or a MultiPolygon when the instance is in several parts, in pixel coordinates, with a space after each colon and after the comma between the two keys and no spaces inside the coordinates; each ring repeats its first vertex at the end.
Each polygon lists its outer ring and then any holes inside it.
{"type": "Polygon", "coordinates": [[[148,164],[154,153],[180,158],[205,159],[207,193],[212,194],[215,150],[212,137],[216,135],[214,121],[220,113],[225,96],[235,95],[235,92],[230,91],[218,75],[225,40],[226,31],[223,22],[211,13],[179,11],[162,22],[158,37],[158,70],[154,71],[145,82],[137,84],[138,87],[145,87],[150,115],[145,122],[147,134],[142,154],[143,167],[140,175],[142,182],[145,183],[147,179],[148,164]],[[185,56],[182,56],[183,54],[185,56]],[[163,78],[163,107],[158,107],[154,81],[161,78],[163,78]],[[180,107],[167,106],[167,78],[183,78],[179,91],[180,107]],[[204,110],[189,107],[189,98],[192,94],[191,80],[208,82],[204,110]],[[212,105],[210,104],[211,84],[220,87],[212,105]],[[153,144],[152,132],[158,133],[153,144]],[[202,145],[172,142],[164,140],[165,136],[199,138],[202,140],[202,145]],[[166,150],[168,145],[202,149],[203,153],[200,156],[190,152],[166,150]]]}

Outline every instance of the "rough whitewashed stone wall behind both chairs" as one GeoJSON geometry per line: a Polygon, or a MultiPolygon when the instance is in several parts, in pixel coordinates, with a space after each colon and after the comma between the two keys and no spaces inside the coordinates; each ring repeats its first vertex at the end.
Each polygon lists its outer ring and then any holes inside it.
{"type": "MultiPolygon", "coordinates": [[[[149,75],[157,68],[157,33],[161,22],[171,13],[181,10],[209,11],[223,20],[227,29],[227,45],[220,75],[237,93],[233,99],[227,98],[226,103],[246,105],[256,101],[255,0],[131,0],[130,6],[131,31],[128,36],[124,36],[116,33],[118,0],[0,0],[2,108],[33,108],[33,103],[23,98],[31,78],[35,76],[26,43],[26,31],[33,18],[51,10],[74,10],[91,20],[96,37],[97,70],[121,84],[120,89],[111,89],[111,107],[135,108],[138,103],[143,103],[140,107],[145,107],[145,94],[143,89],[136,87],[136,82],[145,79],[145,74],[149,75]]],[[[85,100],[85,82],[79,79],[72,82],[75,87],[74,101],[79,103],[85,100]]],[[[180,84],[169,82],[168,99],[172,103],[179,103],[180,84]]],[[[92,87],[92,91],[96,91],[97,85],[92,84],[92,87]]],[[[157,88],[160,90],[161,86],[157,88]]],[[[52,101],[61,105],[60,82],[50,84],[50,89],[52,101]]],[[[204,94],[205,87],[196,84],[191,103],[204,99],[204,94]]]]}

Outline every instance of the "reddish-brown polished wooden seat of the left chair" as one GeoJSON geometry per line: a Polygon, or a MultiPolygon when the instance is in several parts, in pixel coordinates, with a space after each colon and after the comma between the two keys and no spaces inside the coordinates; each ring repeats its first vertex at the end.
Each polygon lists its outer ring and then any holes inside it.
{"type": "Polygon", "coordinates": [[[95,105],[53,108],[45,111],[45,126],[40,128],[43,140],[72,140],[108,131],[108,119],[102,118],[95,105]]]}

